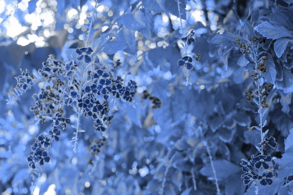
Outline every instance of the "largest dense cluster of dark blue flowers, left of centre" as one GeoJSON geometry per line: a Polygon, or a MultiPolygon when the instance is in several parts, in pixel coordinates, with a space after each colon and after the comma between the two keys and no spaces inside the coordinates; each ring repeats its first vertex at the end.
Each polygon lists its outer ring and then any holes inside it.
{"type": "Polygon", "coordinates": [[[76,53],[81,56],[77,58],[78,62],[72,57],[66,63],[65,75],[68,80],[67,87],[63,90],[63,99],[66,105],[78,107],[84,117],[91,117],[96,132],[104,132],[113,118],[109,114],[109,98],[112,97],[115,101],[122,98],[131,102],[137,92],[137,85],[135,81],[129,80],[124,86],[124,80],[120,76],[114,78],[111,73],[99,66],[99,60],[92,61],[89,56],[91,52],[90,47],[77,49],[76,53]],[[83,65],[74,65],[83,62],[90,64],[85,68],[83,65]],[[84,73],[87,75],[84,76],[84,73]]]}

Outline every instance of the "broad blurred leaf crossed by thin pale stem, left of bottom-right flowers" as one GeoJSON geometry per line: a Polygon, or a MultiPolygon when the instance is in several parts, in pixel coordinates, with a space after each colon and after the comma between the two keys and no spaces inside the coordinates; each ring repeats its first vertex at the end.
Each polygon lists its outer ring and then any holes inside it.
{"type": "MultiPolygon", "coordinates": [[[[235,174],[241,170],[241,168],[227,160],[214,160],[213,161],[217,179],[219,181],[227,179],[232,174],[235,174]]],[[[203,167],[199,173],[203,176],[207,176],[214,179],[214,174],[210,163],[203,167]]]]}

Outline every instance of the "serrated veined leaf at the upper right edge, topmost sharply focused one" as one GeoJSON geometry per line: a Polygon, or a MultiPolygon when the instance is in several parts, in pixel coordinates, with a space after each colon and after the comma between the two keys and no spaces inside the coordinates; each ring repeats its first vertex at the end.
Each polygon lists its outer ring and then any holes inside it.
{"type": "Polygon", "coordinates": [[[267,39],[279,39],[282,37],[293,37],[291,33],[283,26],[273,26],[268,21],[262,22],[254,27],[262,36],[267,39]]]}

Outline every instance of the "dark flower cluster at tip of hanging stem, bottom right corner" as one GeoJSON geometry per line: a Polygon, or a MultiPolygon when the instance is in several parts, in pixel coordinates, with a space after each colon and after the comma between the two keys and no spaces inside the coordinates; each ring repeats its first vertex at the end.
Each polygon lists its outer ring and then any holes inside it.
{"type": "Polygon", "coordinates": [[[241,159],[244,185],[249,185],[254,182],[262,186],[272,185],[272,178],[278,177],[277,171],[280,169],[280,164],[276,163],[272,156],[258,155],[251,156],[251,160],[241,159]]]}

